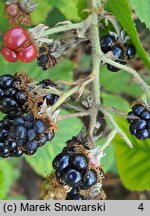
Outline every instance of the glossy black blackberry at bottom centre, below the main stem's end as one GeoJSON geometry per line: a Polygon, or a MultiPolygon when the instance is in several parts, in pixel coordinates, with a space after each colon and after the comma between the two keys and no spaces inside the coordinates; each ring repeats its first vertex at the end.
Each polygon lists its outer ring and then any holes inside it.
{"type": "Polygon", "coordinates": [[[98,181],[95,167],[90,165],[88,155],[79,146],[65,147],[52,163],[58,181],[80,190],[87,190],[98,181]]]}

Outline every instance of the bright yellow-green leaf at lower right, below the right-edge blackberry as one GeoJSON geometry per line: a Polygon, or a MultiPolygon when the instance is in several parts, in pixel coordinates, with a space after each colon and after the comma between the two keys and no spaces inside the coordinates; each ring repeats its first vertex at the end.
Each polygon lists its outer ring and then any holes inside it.
{"type": "Polygon", "coordinates": [[[140,141],[132,136],[125,119],[119,118],[118,124],[133,144],[133,148],[130,149],[119,135],[113,140],[120,177],[130,190],[149,190],[150,142],[140,141]]]}

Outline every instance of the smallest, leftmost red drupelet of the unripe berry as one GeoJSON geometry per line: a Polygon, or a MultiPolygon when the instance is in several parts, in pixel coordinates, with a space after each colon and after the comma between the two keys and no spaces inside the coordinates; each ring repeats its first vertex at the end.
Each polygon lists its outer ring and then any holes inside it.
{"type": "Polygon", "coordinates": [[[16,61],[18,61],[17,54],[14,51],[8,49],[7,47],[3,47],[1,52],[2,52],[2,56],[7,61],[9,61],[9,62],[16,62],[16,61]]]}

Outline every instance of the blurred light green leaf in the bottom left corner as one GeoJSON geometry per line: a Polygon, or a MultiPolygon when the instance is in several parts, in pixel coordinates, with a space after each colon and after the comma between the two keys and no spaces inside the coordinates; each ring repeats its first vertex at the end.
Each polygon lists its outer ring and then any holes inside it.
{"type": "Polygon", "coordinates": [[[10,187],[19,177],[18,170],[14,167],[13,159],[8,161],[0,159],[0,199],[5,199],[9,193],[10,187]]]}

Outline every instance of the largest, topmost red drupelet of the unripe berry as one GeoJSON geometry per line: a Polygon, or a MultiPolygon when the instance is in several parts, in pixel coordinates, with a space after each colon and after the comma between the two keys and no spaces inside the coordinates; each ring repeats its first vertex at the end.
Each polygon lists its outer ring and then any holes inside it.
{"type": "Polygon", "coordinates": [[[28,40],[28,32],[21,27],[11,28],[4,35],[5,46],[15,51],[21,48],[28,40]]]}

